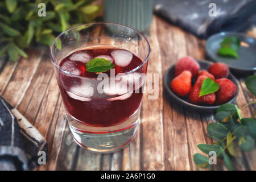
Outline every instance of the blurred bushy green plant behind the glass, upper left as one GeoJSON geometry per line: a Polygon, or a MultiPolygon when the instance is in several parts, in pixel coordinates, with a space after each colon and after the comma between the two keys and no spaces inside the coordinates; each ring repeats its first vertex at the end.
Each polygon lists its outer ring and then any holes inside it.
{"type": "MultiPolygon", "coordinates": [[[[82,23],[93,22],[101,6],[92,5],[94,0],[48,0],[46,16],[39,16],[42,1],[5,0],[0,2],[0,57],[6,52],[13,61],[32,42],[51,45],[55,36],[82,23]]],[[[61,48],[61,42],[56,42],[61,48]]]]}

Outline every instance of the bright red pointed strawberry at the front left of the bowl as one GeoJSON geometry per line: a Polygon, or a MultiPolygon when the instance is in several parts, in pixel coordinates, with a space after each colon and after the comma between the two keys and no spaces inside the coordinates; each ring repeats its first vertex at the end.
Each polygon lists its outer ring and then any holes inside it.
{"type": "Polygon", "coordinates": [[[184,97],[191,90],[191,72],[184,71],[179,76],[175,77],[171,82],[171,89],[178,96],[184,97]]]}

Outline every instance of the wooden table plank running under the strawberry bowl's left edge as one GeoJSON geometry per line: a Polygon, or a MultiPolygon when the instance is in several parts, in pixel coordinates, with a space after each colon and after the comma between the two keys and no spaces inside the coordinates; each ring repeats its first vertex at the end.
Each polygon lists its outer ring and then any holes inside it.
{"type": "MultiPolygon", "coordinates": [[[[163,71],[176,63],[177,59],[187,55],[184,32],[180,28],[170,26],[162,19],[158,21],[158,39],[162,56],[163,71]],[[163,36],[164,35],[164,36],[163,36]]],[[[164,157],[167,170],[189,170],[189,152],[187,129],[182,107],[173,102],[168,94],[164,94],[164,157]]]]}

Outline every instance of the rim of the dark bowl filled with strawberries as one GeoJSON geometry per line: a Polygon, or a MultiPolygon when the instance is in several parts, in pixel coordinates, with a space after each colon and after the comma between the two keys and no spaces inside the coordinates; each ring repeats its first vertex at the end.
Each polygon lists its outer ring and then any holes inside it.
{"type": "MultiPolygon", "coordinates": [[[[210,61],[207,61],[207,60],[199,60],[199,59],[196,59],[196,61],[201,64],[201,63],[207,63],[207,64],[213,64],[212,62],[210,61]]],[[[179,96],[177,96],[174,92],[172,92],[171,88],[170,88],[170,84],[171,83],[167,83],[167,79],[168,79],[168,73],[171,71],[171,69],[173,69],[175,67],[176,63],[175,64],[172,64],[171,67],[169,67],[166,72],[164,73],[164,87],[166,88],[168,94],[174,98],[177,102],[179,102],[179,104],[182,104],[182,105],[185,105],[185,106],[189,106],[189,107],[192,107],[193,109],[203,109],[203,110],[216,110],[218,109],[218,107],[220,107],[221,105],[217,105],[217,106],[202,106],[202,105],[196,105],[196,104],[192,104],[188,101],[185,101],[183,100],[182,98],[180,98],[179,96]]],[[[237,86],[237,93],[236,95],[230,99],[228,102],[225,102],[223,104],[226,104],[226,103],[231,103],[233,102],[234,100],[236,100],[237,96],[238,96],[238,93],[239,93],[239,85],[238,85],[238,81],[237,81],[237,78],[234,77],[234,75],[232,73],[229,72],[229,76],[232,77],[232,81],[234,82],[234,84],[236,84],[237,86]]]]}

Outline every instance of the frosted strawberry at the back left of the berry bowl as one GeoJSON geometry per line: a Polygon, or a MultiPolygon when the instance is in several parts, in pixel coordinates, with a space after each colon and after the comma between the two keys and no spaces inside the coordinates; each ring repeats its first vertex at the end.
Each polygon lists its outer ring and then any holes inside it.
{"type": "Polygon", "coordinates": [[[177,61],[175,66],[175,77],[180,75],[183,71],[190,71],[192,78],[199,72],[200,65],[192,57],[182,57],[177,61]]]}

